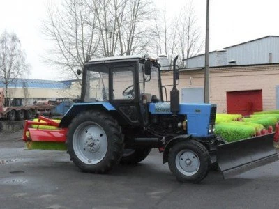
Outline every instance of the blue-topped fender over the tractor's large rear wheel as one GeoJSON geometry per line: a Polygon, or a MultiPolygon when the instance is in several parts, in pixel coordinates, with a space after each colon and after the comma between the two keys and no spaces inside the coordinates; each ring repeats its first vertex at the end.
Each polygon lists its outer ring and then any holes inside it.
{"type": "Polygon", "coordinates": [[[65,116],[63,116],[59,127],[68,127],[70,122],[80,114],[82,111],[89,110],[99,110],[99,111],[116,111],[116,109],[109,102],[84,102],[84,103],[75,103],[70,107],[70,109],[66,112],[65,116]]]}

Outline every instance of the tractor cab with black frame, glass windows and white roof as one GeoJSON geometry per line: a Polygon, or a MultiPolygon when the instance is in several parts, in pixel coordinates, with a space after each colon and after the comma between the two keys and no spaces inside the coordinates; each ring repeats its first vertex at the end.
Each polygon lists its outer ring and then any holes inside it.
{"type": "Polygon", "coordinates": [[[108,102],[121,123],[146,125],[148,104],[163,100],[160,65],[142,56],[94,59],[84,65],[83,102],[108,102]]]}

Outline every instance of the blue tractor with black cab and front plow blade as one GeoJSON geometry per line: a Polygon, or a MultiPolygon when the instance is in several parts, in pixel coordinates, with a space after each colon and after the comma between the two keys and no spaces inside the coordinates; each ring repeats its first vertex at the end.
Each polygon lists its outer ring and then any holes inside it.
{"type": "Polygon", "coordinates": [[[106,173],[118,163],[141,162],[159,148],[177,180],[199,183],[211,167],[226,178],[278,160],[272,134],[227,144],[214,134],[215,104],[179,103],[176,59],[169,102],[154,59],[94,59],[77,71],[81,101],[59,124],[68,128],[68,153],[77,167],[106,173]]]}

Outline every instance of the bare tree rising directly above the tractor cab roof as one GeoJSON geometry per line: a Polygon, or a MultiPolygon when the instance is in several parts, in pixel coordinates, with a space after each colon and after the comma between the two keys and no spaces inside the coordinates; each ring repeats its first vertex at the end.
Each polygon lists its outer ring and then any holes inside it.
{"type": "Polygon", "coordinates": [[[103,56],[141,53],[151,40],[150,0],[92,0],[103,56]]]}

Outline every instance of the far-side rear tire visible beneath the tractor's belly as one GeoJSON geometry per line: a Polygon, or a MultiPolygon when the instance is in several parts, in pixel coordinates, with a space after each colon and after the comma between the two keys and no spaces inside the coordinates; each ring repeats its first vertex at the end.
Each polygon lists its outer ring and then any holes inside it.
{"type": "Polygon", "coordinates": [[[120,162],[122,164],[137,164],[144,160],[150,151],[151,148],[125,149],[120,162]]]}

